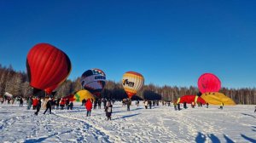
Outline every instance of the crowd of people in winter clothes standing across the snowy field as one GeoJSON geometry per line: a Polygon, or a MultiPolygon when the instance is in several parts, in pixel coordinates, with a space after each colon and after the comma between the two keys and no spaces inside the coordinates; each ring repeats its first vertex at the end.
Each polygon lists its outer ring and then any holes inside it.
{"type": "MultiPolygon", "coordinates": [[[[15,101],[17,101],[17,103],[20,104],[20,107],[23,107],[24,105],[24,99],[21,97],[16,97],[16,98],[10,98],[10,97],[0,97],[0,103],[6,103],[9,104],[14,104],[15,101]]],[[[115,100],[107,100],[105,98],[102,99],[88,99],[88,100],[82,100],[82,105],[84,106],[86,109],[86,117],[90,117],[91,115],[91,110],[93,109],[102,109],[102,104],[103,104],[103,109],[106,112],[106,117],[107,120],[111,120],[111,115],[112,115],[112,109],[113,109],[113,104],[114,104],[115,100]]],[[[183,109],[187,109],[187,103],[177,103],[176,101],[171,102],[171,101],[164,101],[162,100],[162,106],[171,106],[171,104],[173,104],[174,110],[175,111],[180,111],[181,110],[181,104],[183,105],[183,109]]],[[[135,105],[139,106],[140,100],[136,100],[135,101],[135,105]]],[[[152,109],[152,106],[159,106],[160,104],[160,100],[143,100],[143,106],[145,107],[145,109],[152,109]]],[[[127,111],[130,111],[130,107],[131,107],[131,99],[127,98],[122,100],[122,104],[123,106],[127,106],[127,111]]],[[[49,114],[51,114],[52,110],[73,110],[73,101],[69,100],[69,99],[63,99],[63,98],[59,98],[59,99],[55,99],[55,98],[50,98],[50,97],[46,97],[46,98],[38,98],[38,97],[28,97],[26,99],[26,109],[27,110],[36,110],[35,115],[38,115],[38,112],[40,111],[40,109],[42,108],[44,110],[44,114],[47,113],[49,111],[49,114]]],[[[208,103],[206,104],[206,107],[208,108],[208,103]]],[[[198,107],[202,107],[201,103],[197,103],[198,107]]],[[[191,103],[191,107],[195,108],[195,102],[191,103]]],[[[219,109],[223,109],[224,108],[224,103],[220,104],[219,109]]],[[[256,112],[256,106],[255,106],[255,111],[256,112]]]]}

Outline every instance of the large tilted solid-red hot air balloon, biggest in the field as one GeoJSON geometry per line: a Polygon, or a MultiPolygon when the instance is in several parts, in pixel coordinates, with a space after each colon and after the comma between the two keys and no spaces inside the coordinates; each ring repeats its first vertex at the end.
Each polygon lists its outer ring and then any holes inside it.
{"type": "Polygon", "coordinates": [[[44,90],[67,78],[71,62],[60,49],[49,43],[38,43],[27,54],[26,70],[30,85],[44,90]]]}

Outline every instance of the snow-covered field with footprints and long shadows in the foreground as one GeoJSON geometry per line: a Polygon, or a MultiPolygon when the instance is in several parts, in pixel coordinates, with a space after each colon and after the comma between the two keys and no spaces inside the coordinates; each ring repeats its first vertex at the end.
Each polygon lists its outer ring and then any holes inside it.
{"type": "Polygon", "coordinates": [[[0,142],[256,142],[254,106],[195,107],[174,111],[173,106],[127,112],[113,105],[113,120],[103,109],[86,117],[84,106],[54,110],[38,116],[26,106],[0,105],[0,142]]]}

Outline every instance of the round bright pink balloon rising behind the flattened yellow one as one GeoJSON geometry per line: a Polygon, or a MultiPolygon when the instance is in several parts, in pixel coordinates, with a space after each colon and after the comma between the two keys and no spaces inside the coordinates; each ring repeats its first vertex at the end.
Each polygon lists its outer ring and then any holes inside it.
{"type": "Polygon", "coordinates": [[[197,84],[202,94],[206,92],[218,92],[221,88],[220,80],[212,73],[205,73],[201,75],[197,84]]]}

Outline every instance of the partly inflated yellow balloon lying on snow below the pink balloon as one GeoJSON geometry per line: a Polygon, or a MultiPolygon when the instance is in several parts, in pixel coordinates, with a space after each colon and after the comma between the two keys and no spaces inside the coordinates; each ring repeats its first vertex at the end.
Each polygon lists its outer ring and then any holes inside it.
{"type": "Polygon", "coordinates": [[[218,92],[204,93],[201,95],[201,98],[204,99],[210,105],[220,105],[221,103],[224,103],[224,106],[236,106],[234,100],[218,92]]]}

